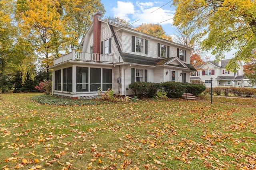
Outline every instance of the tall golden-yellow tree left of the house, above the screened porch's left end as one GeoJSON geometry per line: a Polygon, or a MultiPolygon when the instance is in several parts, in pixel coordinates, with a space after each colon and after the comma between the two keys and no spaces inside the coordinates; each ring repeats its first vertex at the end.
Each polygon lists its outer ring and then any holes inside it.
{"type": "Polygon", "coordinates": [[[67,51],[67,31],[59,14],[61,6],[52,0],[20,0],[17,3],[22,37],[26,38],[26,45],[36,51],[38,60],[48,72],[53,57],[59,57],[59,51],[67,51]]]}

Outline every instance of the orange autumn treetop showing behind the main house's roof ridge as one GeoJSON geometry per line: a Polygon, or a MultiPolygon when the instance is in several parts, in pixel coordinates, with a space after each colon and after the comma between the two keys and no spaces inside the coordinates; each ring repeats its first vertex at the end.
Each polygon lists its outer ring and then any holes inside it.
{"type": "Polygon", "coordinates": [[[170,35],[166,35],[166,32],[164,31],[163,27],[158,24],[142,23],[140,26],[138,26],[134,29],[137,31],[140,31],[142,33],[146,33],[149,35],[156,36],[158,38],[167,39],[169,41],[172,41],[172,37],[170,35]]]}

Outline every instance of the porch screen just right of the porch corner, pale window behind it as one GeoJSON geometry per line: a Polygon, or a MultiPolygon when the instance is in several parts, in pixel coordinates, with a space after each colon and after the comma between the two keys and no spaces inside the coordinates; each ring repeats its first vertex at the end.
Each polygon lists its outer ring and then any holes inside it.
{"type": "Polygon", "coordinates": [[[76,67],[76,92],[88,92],[88,67],[76,67]]]}

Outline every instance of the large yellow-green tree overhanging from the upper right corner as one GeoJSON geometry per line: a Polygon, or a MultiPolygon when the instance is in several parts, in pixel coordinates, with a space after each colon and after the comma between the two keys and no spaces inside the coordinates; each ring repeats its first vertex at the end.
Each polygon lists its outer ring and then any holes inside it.
{"type": "Polygon", "coordinates": [[[256,58],[256,2],[254,0],[174,0],[174,25],[194,25],[200,31],[202,50],[212,51],[216,60],[231,49],[237,52],[227,68],[236,71],[236,61],[256,58]]]}

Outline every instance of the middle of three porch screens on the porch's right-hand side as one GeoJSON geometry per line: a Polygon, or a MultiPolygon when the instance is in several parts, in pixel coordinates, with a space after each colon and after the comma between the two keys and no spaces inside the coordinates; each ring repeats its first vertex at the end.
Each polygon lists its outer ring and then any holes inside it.
{"type": "Polygon", "coordinates": [[[90,91],[97,92],[98,87],[101,86],[101,69],[100,68],[91,68],[90,73],[90,91]]]}

